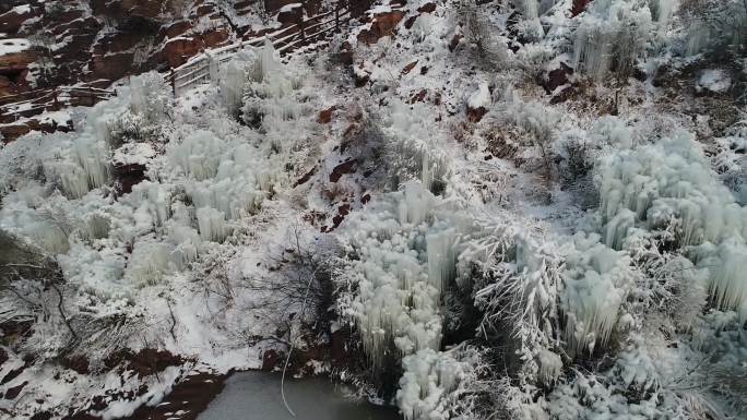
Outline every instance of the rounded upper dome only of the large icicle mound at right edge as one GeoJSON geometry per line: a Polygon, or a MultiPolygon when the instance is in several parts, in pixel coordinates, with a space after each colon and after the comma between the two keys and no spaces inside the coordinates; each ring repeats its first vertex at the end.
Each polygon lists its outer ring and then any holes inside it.
{"type": "MultiPolygon", "coordinates": [[[[666,226],[672,217],[681,220],[678,240],[683,244],[719,242],[733,233],[746,233],[747,214],[718,181],[688,133],[620,152],[602,167],[600,217],[605,226],[629,219],[620,216],[627,209],[648,229],[666,226]]],[[[625,229],[606,229],[607,244],[622,243],[625,237],[617,235],[625,229]]]]}

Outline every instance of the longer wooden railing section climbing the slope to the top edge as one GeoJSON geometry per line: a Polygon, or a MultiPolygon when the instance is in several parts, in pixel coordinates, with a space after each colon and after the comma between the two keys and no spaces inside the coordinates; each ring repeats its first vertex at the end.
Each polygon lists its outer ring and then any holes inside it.
{"type": "MultiPolygon", "coordinates": [[[[367,0],[371,5],[374,0],[367,0]]],[[[364,9],[368,9],[368,7],[364,9]]],[[[357,5],[360,8],[360,5],[357,5]]],[[[298,23],[276,32],[241,40],[225,47],[208,50],[192,57],[182,65],[171,69],[166,81],[171,85],[174,96],[197,85],[211,81],[211,67],[218,65],[230,59],[247,47],[261,47],[264,43],[272,44],[281,55],[298,50],[313,43],[325,40],[329,35],[340,32],[351,21],[351,2],[339,0],[333,10],[310,17],[301,17],[298,23]]]]}

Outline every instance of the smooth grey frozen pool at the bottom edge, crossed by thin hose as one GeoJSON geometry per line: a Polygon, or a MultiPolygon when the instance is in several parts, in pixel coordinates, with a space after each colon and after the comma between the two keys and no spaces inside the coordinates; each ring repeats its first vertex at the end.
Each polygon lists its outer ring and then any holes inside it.
{"type": "Polygon", "coordinates": [[[280,391],[281,375],[240,372],[226,381],[226,387],[198,420],[399,420],[393,407],[354,401],[327,379],[288,380],[285,397],[296,412],[285,409],[280,391]]]}

